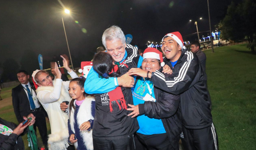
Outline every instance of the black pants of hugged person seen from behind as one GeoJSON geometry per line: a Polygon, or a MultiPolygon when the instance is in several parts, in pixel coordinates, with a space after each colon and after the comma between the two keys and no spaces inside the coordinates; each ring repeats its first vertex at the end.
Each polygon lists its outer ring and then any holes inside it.
{"type": "Polygon", "coordinates": [[[94,150],[135,150],[133,135],[125,139],[99,140],[93,138],[94,150]]]}

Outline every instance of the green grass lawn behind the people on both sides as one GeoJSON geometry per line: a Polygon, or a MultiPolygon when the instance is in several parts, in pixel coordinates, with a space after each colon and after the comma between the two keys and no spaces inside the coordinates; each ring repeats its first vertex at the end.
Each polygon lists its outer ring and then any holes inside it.
{"type": "MultiPolygon", "coordinates": [[[[220,47],[214,51],[204,53],[219,149],[256,150],[256,55],[245,45],[220,47]]],[[[1,95],[6,100],[0,101],[0,116],[17,123],[11,88],[2,89],[1,95]],[[5,106],[1,107],[2,104],[5,106]]],[[[50,133],[49,122],[47,128],[50,133]]],[[[25,136],[23,140],[28,150],[25,136]]]]}

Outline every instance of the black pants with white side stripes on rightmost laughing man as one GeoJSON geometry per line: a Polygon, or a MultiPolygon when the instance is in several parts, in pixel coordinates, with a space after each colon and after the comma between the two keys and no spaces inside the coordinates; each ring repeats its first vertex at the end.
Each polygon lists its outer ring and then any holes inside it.
{"type": "Polygon", "coordinates": [[[187,129],[182,126],[180,135],[185,150],[218,150],[218,136],[212,123],[203,129],[187,129]]]}

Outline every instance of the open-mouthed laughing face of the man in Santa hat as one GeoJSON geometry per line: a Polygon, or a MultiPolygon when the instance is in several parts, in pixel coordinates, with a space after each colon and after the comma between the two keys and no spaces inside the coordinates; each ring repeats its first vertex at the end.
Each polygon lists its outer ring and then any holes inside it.
{"type": "Polygon", "coordinates": [[[162,51],[167,59],[175,62],[180,58],[181,46],[172,37],[168,36],[162,42],[162,51]]]}

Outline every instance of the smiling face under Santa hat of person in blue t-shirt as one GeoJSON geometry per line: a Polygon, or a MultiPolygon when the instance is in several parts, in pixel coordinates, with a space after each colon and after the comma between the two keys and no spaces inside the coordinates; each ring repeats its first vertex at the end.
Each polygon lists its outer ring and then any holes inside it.
{"type": "Polygon", "coordinates": [[[159,65],[159,60],[156,58],[145,58],[141,64],[142,70],[155,72],[159,70],[161,66],[159,65]]]}

